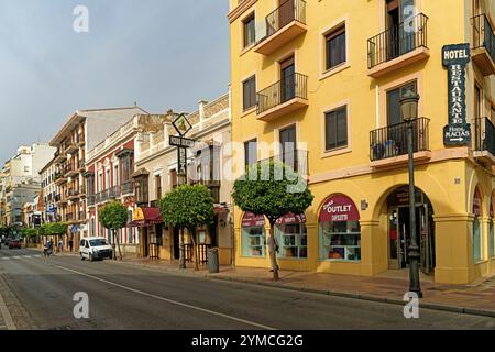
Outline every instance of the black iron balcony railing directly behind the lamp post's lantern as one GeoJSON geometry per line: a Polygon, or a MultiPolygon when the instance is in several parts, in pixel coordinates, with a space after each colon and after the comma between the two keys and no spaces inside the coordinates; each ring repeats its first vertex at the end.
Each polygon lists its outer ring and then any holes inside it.
{"type": "MultiPolygon", "coordinates": [[[[430,120],[419,118],[413,123],[413,151],[428,151],[428,125],[430,120]]],[[[407,151],[407,122],[402,122],[370,132],[370,158],[372,162],[405,155],[407,151]]]]}

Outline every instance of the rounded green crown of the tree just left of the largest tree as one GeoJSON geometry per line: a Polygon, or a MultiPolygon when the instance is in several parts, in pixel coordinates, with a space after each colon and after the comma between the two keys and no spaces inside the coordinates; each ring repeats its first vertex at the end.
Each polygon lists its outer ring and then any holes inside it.
{"type": "Polygon", "coordinates": [[[213,197],[204,185],[179,186],[166,194],[158,207],[164,222],[178,229],[195,231],[215,218],[213,197]]]}

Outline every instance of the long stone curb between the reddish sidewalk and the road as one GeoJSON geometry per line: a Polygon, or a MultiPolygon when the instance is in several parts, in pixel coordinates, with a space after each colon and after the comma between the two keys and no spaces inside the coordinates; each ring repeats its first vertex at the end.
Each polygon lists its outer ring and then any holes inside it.
{"type": "MultiPolygon", "coordinates": [[[[296,287],[296,286],[280,284],[280,283],[264,282],[264,280],[242,278],[242,277],[217,276],[217,274],[210,274],[208,272],[196,274],[196,273],[185,272],[183,270],[160,267],[160,266],[155,266],[155,265],[141,264],[141,263],[113,262],[113,261],[112,261],[112,263],[127,264],[127,265],[131,265],[131,266],[141,266],[141,267],[145,267],[145,268],[156,270],[158,272],[166,271],[167,273],[175,273],[175,274],[182,275],[182,276],[234,282],[234,283],[265,286],[265,287],[271,287],[271,288],[287,289],[287,290],[293,290],[293,292],[304,292],[304,293],[310,293],[310,294],[317,294],[317,295],[326,295],[326,296],[330,296],[330,297],[359,299],[359,300],[375,301],[375,302],[391,304],[391,305],[397,305],[397,306],[404,306],[406,304],[404,300],[400,300],[397,298],[388,298],[388,297],[373,296],[373,295],[362,295],[362,294],[337,292],[337,290],[326,290],[326,289],[308,288],[308,287],[296,287]]],[[[421,301],[419,305],[421,308],[426,308],[426,309],[448,311],[448,312],[454,312],[454,314],[461,314],[461,315],[495,318],[495,310],[470,308],[470,307],[455,307],[455,306],[447,306],[447,305],[441,305],[441,304],[421,302],[421,301]]]]}

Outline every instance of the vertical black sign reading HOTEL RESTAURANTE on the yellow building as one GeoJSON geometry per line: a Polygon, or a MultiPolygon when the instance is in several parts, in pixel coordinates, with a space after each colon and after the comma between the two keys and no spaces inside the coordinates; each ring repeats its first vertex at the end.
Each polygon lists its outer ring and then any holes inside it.
{"type": "Polygon", "coordinates": [[[466,123],[465,66],[471,61],[470,45],[446,45],[442,63],[448,69],[449,124],[443,128],[443,144],[471,144],[471,125],[466,123]]]}

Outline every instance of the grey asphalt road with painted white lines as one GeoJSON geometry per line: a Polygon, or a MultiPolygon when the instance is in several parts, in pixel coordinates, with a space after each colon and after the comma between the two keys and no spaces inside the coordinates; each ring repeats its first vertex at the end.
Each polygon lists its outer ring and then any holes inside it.
{"type": "Polygon", "coordinates": [[[0,294],[0,328],[7,319],[43,330],[495,329],[488,317],[420,309],[419,319],[405,319],[397,305],[4,248],[0,294]],[[74,317],[80,292],[89,298],[88,319],[74,317]],[[2,301],[11,319],[2,317],[2,301]]]}

